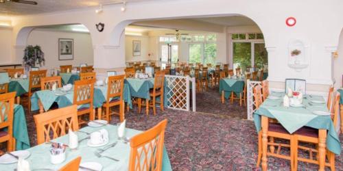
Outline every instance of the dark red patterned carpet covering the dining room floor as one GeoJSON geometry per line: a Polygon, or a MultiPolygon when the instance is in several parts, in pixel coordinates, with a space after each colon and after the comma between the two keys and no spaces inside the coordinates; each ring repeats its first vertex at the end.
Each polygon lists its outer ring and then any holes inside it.
{"type": "MultiPolygon", "coordinates": [[[[152,110],[146,116],[132,109],[126,113],[127,126],[144,131],[167,118],[165,146],[173,170],[260,170],[256,167],[257,133],[253,122],[244,119],[246,107],[239,107],[237,102],[230,105],[227,100],[220,103],[217,90],[197,94],[197,112],[161,112],[158,108],[156,116],[152,110]]],[[[25,98],[23,103],[27,103],[25,98]]],[[[32,114],[26,116],[33,146],[36,128],[32,114]]],[[[118,118],[112,122],[118,122],[118,118]]],[[[336,156],[335,162],[336,169],[343,170],[343,155],[336,156]]],[[[289,166],[287,160],[268,158],[269,170],[290,170],[289,166]]],[[[318,166],[300,162],[298,170],[318,170],[318,166]]]]}

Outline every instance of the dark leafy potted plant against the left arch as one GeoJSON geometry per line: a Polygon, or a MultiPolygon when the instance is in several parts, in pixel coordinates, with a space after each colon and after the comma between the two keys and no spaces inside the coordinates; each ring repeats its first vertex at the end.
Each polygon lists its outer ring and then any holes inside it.
{"type": "Polygon", "coordinates": [[[30,68],[37,65],[45,65],[44,53],[40,46],[28,45],[24,50],[23,65],[25,70],[29,71],[30,68]]]}

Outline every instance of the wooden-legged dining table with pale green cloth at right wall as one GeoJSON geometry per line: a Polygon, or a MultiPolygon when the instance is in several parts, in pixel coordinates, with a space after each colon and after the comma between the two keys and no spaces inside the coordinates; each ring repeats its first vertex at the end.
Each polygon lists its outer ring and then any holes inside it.
{"type": "MultiPolygon", "coordinates": [[[[325,148],[336,155],[341,153],[340,139],[335,131],[324,98],[322,96],[305,95],[303,105],[299,107],[292,107],[292,105],[283,107],[285,93],[272,92],[270,96],[279,98],[267,98],[253,115],[257,133],[262,130],[262,139],[267,140],[268,118],[276,119],[291,134],[305,126],[318,129],[320,170],[324,170],[325,148]],[[322,103],[318,103],[318,101],[322,101],[322,103]],[[327,115],[320,115],[322,112],[327,115]]],[[[266,145],[266,142],[262,141],[263,148],[266,149],[266,145]]],[[[261,161],[267,161],[265,150],[263,150],[261,161]]],[[[267,165],[262,163],[262,166],[267,165]]]]}

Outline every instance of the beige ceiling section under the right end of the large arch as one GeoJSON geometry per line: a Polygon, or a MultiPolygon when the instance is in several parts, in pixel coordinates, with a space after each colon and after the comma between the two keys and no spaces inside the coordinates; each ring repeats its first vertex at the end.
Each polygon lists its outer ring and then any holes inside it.
{"type": "Polygon", "coordinates": [[[193,20],[223,26],[256,25],[254,21],[245,16],[221,16],[211,18],[196,18],[193,20]]]}

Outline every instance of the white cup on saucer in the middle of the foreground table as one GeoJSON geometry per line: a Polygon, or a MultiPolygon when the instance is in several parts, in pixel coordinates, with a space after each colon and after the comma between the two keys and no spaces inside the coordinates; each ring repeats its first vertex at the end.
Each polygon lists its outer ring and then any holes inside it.
{"type": "Polygon", "coordinates": [[[108,144],[108,131],[106,129],[101,129],[91,133],[91,136],[87,142],[87,146],[99,147],[108,144]]]}

